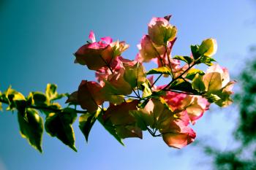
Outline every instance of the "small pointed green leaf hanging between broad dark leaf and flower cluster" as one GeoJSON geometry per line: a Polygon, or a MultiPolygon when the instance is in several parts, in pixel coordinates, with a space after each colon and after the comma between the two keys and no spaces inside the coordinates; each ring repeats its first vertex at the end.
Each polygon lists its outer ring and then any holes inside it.
{"type": "Polygon", "coordinates": [[[88,142],[89,133],[100,112],[101,109],[98,109],[94,114],[90,114],[88,112],[79,117],[79,128],[82,131],[83,135],[86,137],[86,142],[88,142]]]}

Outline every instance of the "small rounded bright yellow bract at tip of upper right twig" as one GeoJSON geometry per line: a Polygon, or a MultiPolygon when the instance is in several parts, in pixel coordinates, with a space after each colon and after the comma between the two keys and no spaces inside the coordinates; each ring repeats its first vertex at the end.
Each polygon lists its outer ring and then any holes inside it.
{"type": "Polygon", "coordinates": [[[199,53],[208,57],[213,56],[217,52],[217,41],[216,39],[205,39],[199,46],[199,53]]]}

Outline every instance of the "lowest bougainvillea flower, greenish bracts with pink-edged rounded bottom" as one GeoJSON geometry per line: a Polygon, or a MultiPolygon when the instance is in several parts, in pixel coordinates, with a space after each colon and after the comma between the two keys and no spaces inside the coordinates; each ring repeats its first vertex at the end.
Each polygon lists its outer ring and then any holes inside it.
{"type": "Polygon", "coordinates": [[[169,147],[181,148],[194,141],[195,132],[187,126],[186,111],[172,112],[160,100],[152,98],[139,112],[147,125],[159,130],[169,147]]]}

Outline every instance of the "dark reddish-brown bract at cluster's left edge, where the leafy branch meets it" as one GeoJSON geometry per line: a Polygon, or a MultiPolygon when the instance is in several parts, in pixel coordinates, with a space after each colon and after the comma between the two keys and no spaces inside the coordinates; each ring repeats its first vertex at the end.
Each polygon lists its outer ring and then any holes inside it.
{"type": "Polygon", "coordinates": [[[102,87],[97,82],[83,80],[78,88],[78,103],[83,109],[94,112],[104,101],[100,90],[102,87]]]}

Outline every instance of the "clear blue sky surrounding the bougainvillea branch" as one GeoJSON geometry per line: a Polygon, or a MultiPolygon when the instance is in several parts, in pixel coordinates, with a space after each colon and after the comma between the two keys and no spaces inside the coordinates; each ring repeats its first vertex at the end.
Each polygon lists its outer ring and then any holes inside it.
{"type": "MultiPolygon", "coordinates": [[[[149,20],[169,14],[178,27],[173,55],[189,55],[189,45],[214,37],[217,61],[235,74],[255,43],[255,8],[249,0],[0,0],[0,90],[12,85],[27,94],[52,82],[60,93],[70,93],[80,80],[94,80],[94,72],[74,64],[72,56],[89,31],[127,41],[131,47],[124,55],[132,59],[149,20]]],[[[236,115],[236,109],[212,107],[193,128],[199,137],[216,136],[225,147],[236,115]]],[[[0,170],[209,169],[206,158],[191,146],[176,150],[144,133],[143,140],[126,139],[122,147],[99,124],[86,144],[78,124],[74,126],[78,152],[45,133],[44,153],[39,154],[20,137],[16,114],[0,113],[0,170]]]]}

